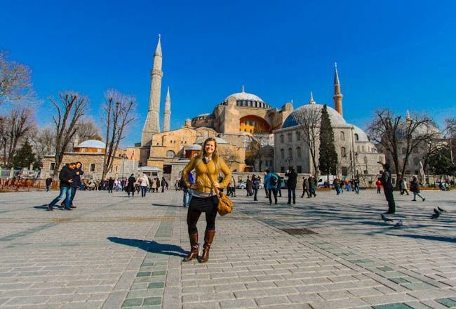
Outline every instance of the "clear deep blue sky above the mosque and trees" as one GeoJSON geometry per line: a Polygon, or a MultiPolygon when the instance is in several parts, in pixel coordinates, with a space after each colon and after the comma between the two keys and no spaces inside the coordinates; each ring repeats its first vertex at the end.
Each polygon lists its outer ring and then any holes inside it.
{"type": "Polygon", "coordinates": [[[159,33],[171,129],[242,84],[273,107],[293,99],[297,108],[309,91],[333,106],[335,62],[349,123],[366,127],[373,110],[391,107],[441,125],[456,117],[455,12],[456,1],[19,0],[2,4],[0,48],[32,68],[41,125],[58,91],[88,96],[93,119],[108,88],[136,96],[123,145],[140,141],[159,33]]]}

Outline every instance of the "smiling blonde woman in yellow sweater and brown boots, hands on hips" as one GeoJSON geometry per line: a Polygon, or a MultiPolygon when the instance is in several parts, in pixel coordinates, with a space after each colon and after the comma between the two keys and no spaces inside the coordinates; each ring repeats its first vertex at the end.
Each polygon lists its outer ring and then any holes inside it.
{"type": "Polygon", "coordinates": [[[204,141],[203,147],[199,155],[194,157],[192,161],[185,166],[182,171],[182,176],[187,188],[193,190],[192,201],[189,205],[187,213],[187,225],[190,238],[190,253],[185,262],[192,261],[198,258],[198,223],[201,213],[206,213],[206,232],[204,232],[204,245],[203,255],[199,262],[205,263],[209,259],[210,245],[213,242],[215,235],[215,217],[217,216],[217,195],[215,188],[223,189],[229,184],[232,177],[232,172],[229,170],[227,164],[223,161],[222,157],[217,152],[217,141],[215,138],[208,138],[204,141]],[[196,180],[195,183],[190,183],[189,173],[195,170],[196,180]],[[217,181],[220,171],[224,174],[221,183],[217,181]]]}

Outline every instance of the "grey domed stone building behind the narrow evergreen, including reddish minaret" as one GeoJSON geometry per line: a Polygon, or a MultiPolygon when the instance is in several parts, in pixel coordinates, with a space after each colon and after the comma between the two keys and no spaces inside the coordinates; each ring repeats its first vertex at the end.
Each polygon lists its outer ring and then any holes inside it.
{"type": "MultiPolygon", "coordinates": [[[[354,178],[359,176],[375,183],[375,178],[382,170],[377,162],[385,162],[384,154],[378,153],[377,148],[366,133],[342,117],[342,93],[340,82],[335,68],[335,108],[327,106],[328,114],[333,126],[334,142],[337,152],[337,176],[340,178],[354,178]]],[[[283,123],[281,129],[274,131],[274,169],[284,173],[288,166],[294,166],[297,173],[314,174],[309,146],[304,142],[302,126],[297,119],[300,114],[307,112],[321,112],[323,105],[314,102],[311,96],[309,104],[302,105],[293,111],[283,123]]],[[[318,119],[318,126],[319,126],[318,119]]],[[[318,144],[318,141],[317,141],[318,144]]],[[[318,164],[318,145],[316,145],[316,162],[318,164]]]]}

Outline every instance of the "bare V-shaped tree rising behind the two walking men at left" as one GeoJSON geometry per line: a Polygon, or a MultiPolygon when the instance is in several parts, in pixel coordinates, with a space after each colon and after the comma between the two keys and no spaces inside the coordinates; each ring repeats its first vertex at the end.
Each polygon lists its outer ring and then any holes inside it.
{"type": "Polygon", "coordinates": [[[60,102],[53,98],[48,100],[54,105],[57,114],[53,116],[55,124],[55,168],[53,177],[57,178],[62,164],[65,149],[76,134],[79,119],[83,117],[88,107],[88,99],[74,92],[60,92],[60,102]]]}

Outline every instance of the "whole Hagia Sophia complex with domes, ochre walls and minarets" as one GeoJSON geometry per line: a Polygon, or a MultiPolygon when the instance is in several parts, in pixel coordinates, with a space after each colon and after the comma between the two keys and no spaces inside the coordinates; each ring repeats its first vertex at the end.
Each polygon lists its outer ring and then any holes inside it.
{"type": "MultiPolygon", "coordinates": [[[[320,110],[323,105],[317,104],[311,97],[309,104],[297,110],[293,109],[292,103],[276,108],[259,96],[247,93],[242,86],[241,92],[233,93],[215,104],[212,112],[186,119],[180,129],[170,130],[171,100],[168,87],[163,130],[160,131],[162,60],[159,37],[150,73],[147,119],[142,129],[141,143],[135,145],[135,150],[139,150],[135,152],[135,157],[141,172],[151,176],[163,175],[174,182],[180,178],[185,164],[201,150],[201,144],[208,137],[215,137],[220,152],[224,157],[231,158],[227,163],[233,171],[252,171],[251,166],[246,166],[245,160],[250,155],[255,136],[261,134],[269,137],[264,146],[274,148],[274,152],[271,152],[274,155],[262,159],[261,169],[283,173],[288,166],[294,166],[298,173],[314,173],[309,148],[300,138],[302,129],[295,115],[303,109],[320,110]]],[[[342,117],[342,93],[337,66],[334,91],[334,108],[328,106],[328,114],[340,162],[337,166],[338,176],[351,178],[361,174],[375,178],[381,169],[377,162],[384,162],[384,155],[377,153],[377,148],[370,143],[363,130],[347,124],[342,117]]]]}

